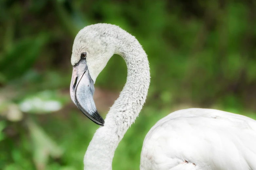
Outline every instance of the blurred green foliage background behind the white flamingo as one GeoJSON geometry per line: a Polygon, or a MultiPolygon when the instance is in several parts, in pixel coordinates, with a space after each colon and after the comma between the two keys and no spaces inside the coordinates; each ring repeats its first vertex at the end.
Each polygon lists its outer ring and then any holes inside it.
{"type": "MultiPolygon", "coordinates": [[[[172,111],[216,108],[256,119],[256,1],[1,0],[0,169],[83,169],[99,127],[71,102],[72,44],[86,25],[119,25],[148,54],[151,84],[113,169],[139,169],[143,139],[172,111]]],[[[113,56],[97,78],[102,117],[126,80],[113,56]]]]}

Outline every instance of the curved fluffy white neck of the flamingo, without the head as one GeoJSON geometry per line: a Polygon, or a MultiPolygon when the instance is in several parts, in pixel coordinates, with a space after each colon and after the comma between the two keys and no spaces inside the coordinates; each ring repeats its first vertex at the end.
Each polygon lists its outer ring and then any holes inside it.
{"type": "Polygon", "coordinates": [[[145,103],[149,83],[149,63],[137,39],[127,32],[115,36],[115,53],[127,65],[127,80],[119,98],[110,108],[104,126],[94,134],[84,155],[84,170],[111,170],[115,150],[145,103]]]}

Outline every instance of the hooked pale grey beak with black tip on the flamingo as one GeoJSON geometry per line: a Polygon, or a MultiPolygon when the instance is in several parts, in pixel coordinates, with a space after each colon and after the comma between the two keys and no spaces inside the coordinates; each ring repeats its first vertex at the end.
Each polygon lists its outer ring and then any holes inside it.
{"type": "Polygon", "coordinates": [[[93,100],[94,91],[94,82],[89,74],[86,60],[81,59],[73,66],[70,97],[85,116],[96,124],[103,126],[104,120],[98,113],[93,100]]]}

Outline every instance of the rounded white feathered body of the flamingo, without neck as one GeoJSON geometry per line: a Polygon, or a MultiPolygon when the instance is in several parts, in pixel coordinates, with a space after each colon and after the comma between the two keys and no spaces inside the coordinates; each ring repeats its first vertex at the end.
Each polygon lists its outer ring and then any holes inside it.
{"type": "Polygon", "coordinates": [[[175,111],[145,137],[141,170],[256,169],[256,121],[215,109],[175,111]]]}

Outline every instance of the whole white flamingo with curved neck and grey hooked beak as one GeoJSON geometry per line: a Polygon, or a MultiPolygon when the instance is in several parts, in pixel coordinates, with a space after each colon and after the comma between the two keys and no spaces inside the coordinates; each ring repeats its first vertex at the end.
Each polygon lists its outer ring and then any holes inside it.
{"type": "MultiPolygon", "coordinates": [[[[84,170],[111,170],[119,142],[145,103],[150,84],[147,55],[134,36],[99,23],[77,34],[71,64],[71,99],[101,125],[85,153],[84,170]],[[93,101],[94,83],[113,54],[125,60],[127,81],[104,121],[93,101]]],[[[214,109],[171,113],[146,135],[140,169],[256,170],[256,121],[214,109]]]]}

